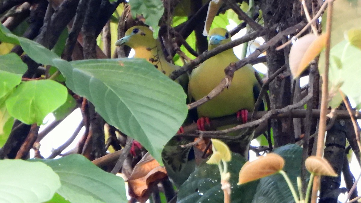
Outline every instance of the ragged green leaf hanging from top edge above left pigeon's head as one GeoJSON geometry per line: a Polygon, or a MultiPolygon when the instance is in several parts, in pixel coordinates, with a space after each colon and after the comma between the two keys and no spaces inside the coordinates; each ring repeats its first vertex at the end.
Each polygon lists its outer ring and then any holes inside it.
{"type": "Polygon", "coordinates": [[[145,24],[154,29],[153,36],[158,38],[159,26],[158,22],[163,15],[164,6],[161,0],[130,0],[130,9],[133,18],[136,15],[143,15],[145,24]]]}

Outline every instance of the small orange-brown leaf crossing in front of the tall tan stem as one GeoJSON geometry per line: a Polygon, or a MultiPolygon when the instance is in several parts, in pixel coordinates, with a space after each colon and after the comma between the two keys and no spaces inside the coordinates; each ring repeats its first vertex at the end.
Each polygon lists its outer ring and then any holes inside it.
{"type": "Polygon", "coordinates": [[[318,176],[338,176],[330,163],[323,157],[309,156],[305,161],[305,166],[310,173],[318,176]]]}

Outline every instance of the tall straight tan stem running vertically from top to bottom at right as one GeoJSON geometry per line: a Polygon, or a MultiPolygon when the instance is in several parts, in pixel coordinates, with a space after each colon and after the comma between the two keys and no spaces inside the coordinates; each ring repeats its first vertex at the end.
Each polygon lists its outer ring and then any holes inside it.
{"type": "MultiPolygon", "coordinates": [[[[329,100],[329,65],[330,65],[330,45],[331,45],[331,26],[332,26],[332,8],[333,3],[330,1],[327,7],[326,19],[326,49],[325,49],[325,70],[322,74],[322,96],[321,96],[321,112],[319,117],[318,138],[316,156],[322,157],[323,148],[325,147],[325,133],[326,133],[326,111],[329,100]]],[[[319,190],[320,176],[315,176],[313,180],[311,203],[316,203],[317,192],[319,190]]]]}

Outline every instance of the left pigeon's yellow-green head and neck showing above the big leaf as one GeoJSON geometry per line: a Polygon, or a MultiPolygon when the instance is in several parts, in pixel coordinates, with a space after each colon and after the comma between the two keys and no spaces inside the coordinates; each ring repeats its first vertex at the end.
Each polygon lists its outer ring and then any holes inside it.
{"type": "MultiPolygon", "coordinates": [[[[160,72],[167,76],[179,68],[179,66],[171,64],[165,59],[160,41],[153,38],[153,32],[149,29],[149,27],[131,27],[126,31],[124,37],[116,42],[116,45],[126,45],[131,47],[135,51],[135,58],[147,60],[160,72]]],[[[188,75],[181,75],[176,82],[187,88],[188,75]]]]}

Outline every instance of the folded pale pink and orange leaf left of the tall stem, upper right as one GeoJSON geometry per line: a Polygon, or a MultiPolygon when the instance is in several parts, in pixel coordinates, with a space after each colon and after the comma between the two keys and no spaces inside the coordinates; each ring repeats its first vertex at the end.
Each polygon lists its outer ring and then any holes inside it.
{"type": "Polygon", "coordinates": [[[290,69],[297,78],[308,64],[321,53],[326,44],[326,35],[306,34],[293,44],[290,51],[290,69]]]}

